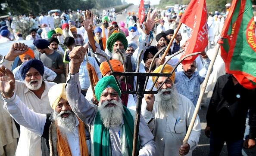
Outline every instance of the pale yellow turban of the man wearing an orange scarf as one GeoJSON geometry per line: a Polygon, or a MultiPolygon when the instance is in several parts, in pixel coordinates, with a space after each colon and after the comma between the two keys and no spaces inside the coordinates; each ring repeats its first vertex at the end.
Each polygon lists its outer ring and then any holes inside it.
{"type": "Polygon", "coordinates": [[[61,98],[64,98],[65,100],[67,100],[65,83],[59,83],[52,86],[48,92],[48,98],[53,110],[55,110],[61,98]]]}

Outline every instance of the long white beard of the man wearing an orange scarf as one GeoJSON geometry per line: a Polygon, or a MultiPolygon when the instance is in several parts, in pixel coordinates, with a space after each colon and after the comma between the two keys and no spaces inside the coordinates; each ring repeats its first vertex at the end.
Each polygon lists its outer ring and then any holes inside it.
{"type": "Polygon", "coordinates": [[[57,113],[56,111],[54,111],[53,120],[57,122],[59,131],[64,137],[66,137],[68,133],[73,132],[75,130],[75,113],[70,110],[61,111],[60,113],[57,113]],[[62,118],[61,115],[63,113],[69,113],[69,116],[66,118],[62,118]]]}

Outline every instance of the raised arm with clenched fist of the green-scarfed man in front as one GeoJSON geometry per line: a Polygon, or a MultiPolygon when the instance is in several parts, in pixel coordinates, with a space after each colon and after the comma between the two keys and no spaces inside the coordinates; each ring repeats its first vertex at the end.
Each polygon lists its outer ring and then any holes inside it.
{"type": "Polygon", "coordinates": [[[90,104],[81,94],[79,68],[84,60],[86,49],[75,47],[70,53],[70,70],[66,84],[66,95],[73,112],[85,123],[91,124],[97,113],[97,106],[90,104]]]}

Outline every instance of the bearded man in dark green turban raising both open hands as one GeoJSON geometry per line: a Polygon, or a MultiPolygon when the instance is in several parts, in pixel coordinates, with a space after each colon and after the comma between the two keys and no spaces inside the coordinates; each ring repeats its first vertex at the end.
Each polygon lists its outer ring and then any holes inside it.
{"type": "MultiPolygon", "coordinates": [[[[145,52],[146,45],[148,45],[149,37],[150,37],[150,31],[154,27],[155,21],[154,19],[156,18],[157,14],[156,12],[153,12],[150,14],[150,12],[147,15],[147,21],[144,23],[144,33],[142,33],[142,38],[140,41],[139,47],[135,50],[133,55],[126,55],[125,50],[127,49],[128,46],[128,41],[125,37],[124,34],[122,33],[115,33],[109,36],[107,42],[106,42],[106,47],[107,50],[105,51],[100,49],[100,45],[94,40],[94,35],[93,35],[93,30],[92,30],[92,25],[93,25],[93,13],[91,12],[91,17],[89,12],[85,12],[85,18],[82,19],[84,21],[84,28],[87,31],[88,39],[89,39],[89,44],[91,46],[91,49],[93,52],[99,52],[103,55],[106,55],[108,59],[117,59],[120,62],[122,62],[122,57],[119,54],[119,50],[122,52],[122,54],[126,57],[125,58],[125,66],[127,72],[133,72],[136,67],[137,67],[137,61],[138,60],[138,53],[142,51],[141,58],[143,58],[143,53],[145,52]]],[[[103,61],[106,61],[106,59],[100,55],[95,55],[95,57],[98,59],[100,63],[103,61]]],[[[132,89],[133,87],[133,76],[127,76],[127,81],[131,85],[132,89]]]]}

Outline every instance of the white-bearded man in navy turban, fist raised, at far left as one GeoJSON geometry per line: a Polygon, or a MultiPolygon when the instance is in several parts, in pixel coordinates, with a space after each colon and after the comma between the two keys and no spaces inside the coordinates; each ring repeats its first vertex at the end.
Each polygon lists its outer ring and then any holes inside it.
{"type": "MultiPolygon", "coordinates": [[[[11,69],[13,60],[27,50],[28,46],[24,43],[13,43],[0,64],[11,69]]],[[[26,61],[22,64],[20,71],[25,82],[15,80],[14,92],[16,95],[26,104],[26,107],[35,113],[51,113],[48,91],[56,83],[42,80],[43,63],[35,59],[26,61]]],[[[16,156],[42,156],[40,136],[21,126],[16,156]]]]}

